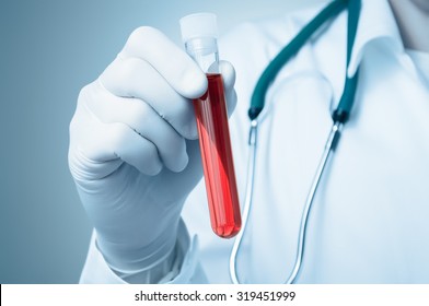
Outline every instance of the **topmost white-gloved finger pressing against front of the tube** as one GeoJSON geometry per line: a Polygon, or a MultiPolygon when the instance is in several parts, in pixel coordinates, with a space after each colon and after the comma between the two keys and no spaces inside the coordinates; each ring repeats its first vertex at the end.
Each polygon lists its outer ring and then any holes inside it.
{"type": "Polygon", "coordinates": [[[156,28],[141,26],[135,30],[119,57],[148,61],[187,98],[200,97],[207,90],[207,78],[197,63],[156,28]]]}

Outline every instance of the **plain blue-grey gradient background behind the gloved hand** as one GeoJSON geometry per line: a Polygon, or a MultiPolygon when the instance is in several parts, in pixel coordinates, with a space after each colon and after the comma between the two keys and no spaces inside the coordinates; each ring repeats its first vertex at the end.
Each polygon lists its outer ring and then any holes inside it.
{"type": "Polygon", "coordinates": [[[0,0],[0,283],[76,283],[91,223],[67,164],[79,90],[131,31],[179,44],[178,19],[218,14],[220,32],[321,0],[0,0]]]}

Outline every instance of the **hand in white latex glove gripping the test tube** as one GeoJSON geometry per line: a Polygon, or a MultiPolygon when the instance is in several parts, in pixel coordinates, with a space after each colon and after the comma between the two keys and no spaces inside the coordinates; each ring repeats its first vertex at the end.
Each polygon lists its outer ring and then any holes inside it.
{"type": "MultiPolygon", "coordinates": [[[[235,72],[221,62],[229,111],[235,72]]],[[[70,123],[69,166],[115,271],[154,267],[174,248],[181,210],[202,176],[192,98],[198,66],[161,32],[140,27],[82,89],[70,123]]]]}

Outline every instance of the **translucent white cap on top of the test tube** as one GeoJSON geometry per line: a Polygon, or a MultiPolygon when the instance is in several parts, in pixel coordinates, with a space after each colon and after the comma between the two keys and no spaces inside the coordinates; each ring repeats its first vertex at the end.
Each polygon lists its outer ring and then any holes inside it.
{"type": "Polygon", "coordinates": [[[197,37],[218,38],[218,24],[212,13],[196,13],[179,20],[184,43],[197,37]]]}

